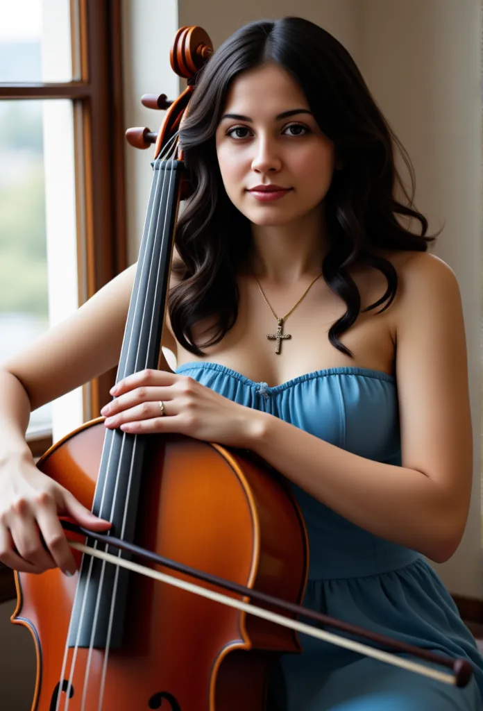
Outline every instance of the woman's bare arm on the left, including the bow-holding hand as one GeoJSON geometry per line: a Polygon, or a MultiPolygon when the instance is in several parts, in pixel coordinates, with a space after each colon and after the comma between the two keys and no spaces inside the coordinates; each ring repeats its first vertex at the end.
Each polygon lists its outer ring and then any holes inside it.
{"type": "Polygon", "coordinates": [[[136,264],[0,365],[0,561],[15,570],[75,572],[58,515],[92,530],[109,528],[36,468],[25,433],[32,410],[119,362],[135,272],[136,264]]]}

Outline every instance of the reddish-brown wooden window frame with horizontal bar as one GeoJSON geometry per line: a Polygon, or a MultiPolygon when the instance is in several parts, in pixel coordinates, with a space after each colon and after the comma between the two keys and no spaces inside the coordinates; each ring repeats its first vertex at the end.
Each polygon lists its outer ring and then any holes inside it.
{"type": "MultiPolygon", "coordinates": [[[[0,100],[73,102],[77,275],[83,304],[127,266],[121,0],[71,0],[70,6],[71,17],[79,22],[72,31],[72,53],[78,48],[80,80],[0,82],[0,100]]],[[[115,376],[113,368],[83,387],[85,420],[97,417],[110,400],[115,376]]],[[[36,433],[27,442],[33,456],[41,456],[53,444],[52,432],[36,433]]],[[[13,574],[0,564],[0,603],[12,597],[13,574]]]]}

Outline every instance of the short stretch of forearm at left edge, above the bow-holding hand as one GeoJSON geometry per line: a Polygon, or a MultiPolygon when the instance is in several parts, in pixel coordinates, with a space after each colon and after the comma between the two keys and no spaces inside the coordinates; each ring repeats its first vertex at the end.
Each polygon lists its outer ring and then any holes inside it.
{"type": "Polygon", "coordinates": [[[29,454],[25,433],[31,405],[15,375],[0,369],[0,463],[13,454],[29,454]]]}

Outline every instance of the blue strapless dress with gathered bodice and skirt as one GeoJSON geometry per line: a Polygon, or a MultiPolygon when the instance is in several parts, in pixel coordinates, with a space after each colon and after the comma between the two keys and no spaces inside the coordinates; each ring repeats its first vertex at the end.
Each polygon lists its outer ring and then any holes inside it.
{"type": "MultiPolygon", "coordinates": [[[[365,368],[331,368],[268,387],[217,363],[186,363],[176,372],[337,447],[401,466],[396,378],[391,375],[365,368]]],[[[284,655],[273,675],[271,708],[481,711],[483,658],[428,562],[416,551],[359,528],[299,486],[290,485],[310,546],[303,604],[435,653],[465,657],[474,678],[465,689],[458,689],[300,635],[303,653],[284,655]]]]}

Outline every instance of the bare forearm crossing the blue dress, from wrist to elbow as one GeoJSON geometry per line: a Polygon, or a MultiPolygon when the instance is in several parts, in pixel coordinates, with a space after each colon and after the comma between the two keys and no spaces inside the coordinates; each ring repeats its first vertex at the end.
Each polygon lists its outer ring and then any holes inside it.
{"type": "Polygon", "coordinates": [[[428,476],[365,459],[281,419],[259,415],[247,446],[325,506],[438,562],[452,555],[451,503],[428,476]]]}

